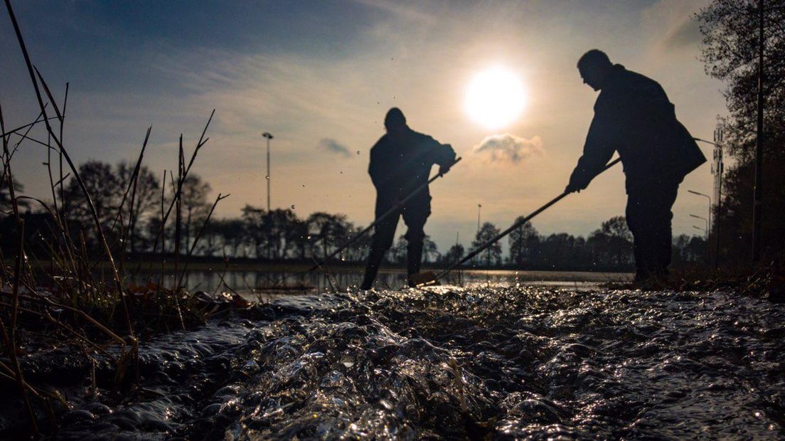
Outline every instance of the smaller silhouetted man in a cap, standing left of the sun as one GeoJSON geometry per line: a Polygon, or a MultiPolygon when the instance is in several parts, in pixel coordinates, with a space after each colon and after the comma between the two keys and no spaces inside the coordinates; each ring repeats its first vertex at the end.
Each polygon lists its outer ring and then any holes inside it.
{"type": "MultiPolygon", "coordinates": [[[[387,133],[371,148],[371,164],[368,166],[368,174],[376,187],[377,219],[428,182],[433,164],[438,164],[440,172],[445,173],[455,162],[455,151],[449,144],[440,144],[432,137],[410,129],[399,108],[391,108],[387,112],[385,129],[387,133]]],[[[409,285],[412,285],[411,276],[420,272],[422,240],[425,238],[423,227],[430,213],[431,195],[425,187],[396,213],[376,225],[360,289],[370,290],[373,286],[385,252],[392,246],[400,216],[403,216],[408,228],[407,274],[409,285]]]]}

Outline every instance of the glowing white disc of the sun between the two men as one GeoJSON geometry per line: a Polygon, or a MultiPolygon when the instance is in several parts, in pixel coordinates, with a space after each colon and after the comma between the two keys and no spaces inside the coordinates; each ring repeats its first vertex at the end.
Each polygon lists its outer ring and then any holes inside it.
{"type": "Polygon", "coordinates": [[[503,67],[480,72],[466,89],[466,113],[487,129],[509,126],[524,111],[525,104],[520,78],[503,67]]]}

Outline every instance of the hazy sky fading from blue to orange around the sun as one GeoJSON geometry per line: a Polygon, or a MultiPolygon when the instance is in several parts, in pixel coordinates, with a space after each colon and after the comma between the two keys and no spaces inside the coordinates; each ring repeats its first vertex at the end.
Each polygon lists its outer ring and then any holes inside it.
{"type": "MultiPolygon", "coordinates": [[[[397,106],[412,129],[464,159],[431,188],[425,230],[440,249],[456,231],[468,244],[478,203],[483,221],[506,228],[558,195],[581,154],[597,97],[575,68],[587,49],[660,82],[696,137],[710,139],[725,113],[722,85],[698,60],[691,16],[705,1],[14,3],[34,64],[59,97],[71,83],[64,140],[75,161],[135,159],[152,125],[146,163],[160,174],[176,167],[180,133],[189,153],[216,109],[193,170],[214,195],[232,194],[218,206],[222,217],[265,203],[268,131],[273,206],[367,224],[368,151],[397,106]],[[492,131],[464,105],[469,82],[489,67],[513,72],[527,96],[520,117],[492,131]],[[493,142],[480,149],[484,140],[493,142]]],[[[38,111],[5,9],[0,15],[0,103],[10,127],[38,111]]],[[[46,151],[23,145],[17,177],[27,193],[46,196],[46,151]]],[[[710,158],[710,146],[701,148],[710,158]]],[[[688,188],[711,193],[708,164],[681,186],[674,234],[696,233],[689,214],[707,214],[706,199],[688,188]]],[[[617,167],[533,224],[587,235],[623,214],[625,201],[617,167]]]]}

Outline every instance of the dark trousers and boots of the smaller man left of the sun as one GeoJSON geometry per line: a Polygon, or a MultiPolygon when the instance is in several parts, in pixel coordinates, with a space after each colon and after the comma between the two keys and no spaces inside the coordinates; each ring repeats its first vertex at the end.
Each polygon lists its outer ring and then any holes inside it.
{"type": "MultiPolygon", "coordinates": [[[[379,265],[382,264],[385,253],[392,246],[392,241],[395,239],[395,230],[398,226],[398,219],[401,216],[403,216],[403,223],[407,226],[406,235],[404,236],[407,240],[407,273],[412,275],[420,272],[422,240],[425,238],[423,228],[431,213],[431,209],[430,204],[427,202],[415,202],[418,203],[410,203],[407,206],[403,206],[403,209],[399,210],[398,213],[392,213],[374,227],[374,239],[371,242],[371,252],[368,253],[368,261],[361,288],[370,289],[371,285],[373,285],[376,273],[379,271],[379,265]]],[[[385,204],[377,203],[376,216],[381,216],[387,210],[389,210],[389,207],[386,207],[385,204]]]]}

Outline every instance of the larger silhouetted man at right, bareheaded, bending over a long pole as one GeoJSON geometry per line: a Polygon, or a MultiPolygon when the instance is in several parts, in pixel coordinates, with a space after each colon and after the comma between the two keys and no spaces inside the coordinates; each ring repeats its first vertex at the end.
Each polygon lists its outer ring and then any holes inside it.
{"type": "Polygon", "coordinates": [[[658,82],[592,49],[578,61],[583,82],[601,90],[583,155],[565,191],[581,191],[619,151],[626,176],[626,220],[633,233],[636,281],[665,275],[671,207],[681,180],[706,162],[658,82]]]}

